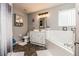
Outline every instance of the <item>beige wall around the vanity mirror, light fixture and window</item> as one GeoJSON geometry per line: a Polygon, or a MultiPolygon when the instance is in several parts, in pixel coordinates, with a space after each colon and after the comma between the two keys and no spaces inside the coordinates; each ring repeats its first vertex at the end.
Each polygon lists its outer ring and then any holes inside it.
{"type": "MultiPolygon", "coordinates": [[[[39,13],[42,13],[42,12],[48,12],[49,13],[49,17],[47,19],[47,25],[52,28],[53,30],[62,30],[62,27],[58,26],[58,11],[59,10],[64,10],[64,9],[69,9],[69,8],[74,8],[75,7],[75,4],[62,4],[62,5],[59,5],[59,6],[56,6],[56,7],[52,7],[52,8],[49,8],[49,9],[45,9],[45,10],[41,10],[41,11],[38,11],[38,12],[35,12],[35,13],[31,13],[29,14],[28,18],[29,18],[29,30],[33,29],[33,24],[32,24],[32,19],[35,20],[35,28],[39,28],[39,22],[37,19],[37,15],[39,13]]],[[[70,30],[71,27],[68,27],[68,30],[70,30]]]]}

